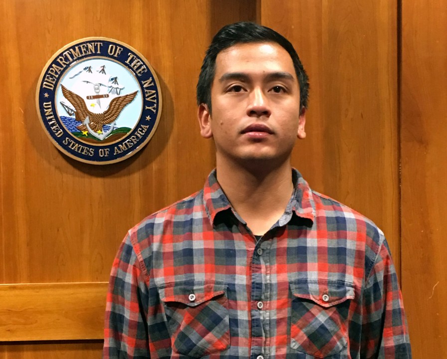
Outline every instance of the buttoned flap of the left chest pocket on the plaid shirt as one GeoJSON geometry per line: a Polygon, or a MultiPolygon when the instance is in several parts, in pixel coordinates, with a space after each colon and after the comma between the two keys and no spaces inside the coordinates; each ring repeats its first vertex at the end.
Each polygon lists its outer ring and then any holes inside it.
{"type": "Polygon", "coordinates": [[[195,307],[214,297],[225,294],[227,289],[223,283],[181,282],[166,283],[159,289],[160,299],[163,302],[177,302],[189,307],[195,307]]]}

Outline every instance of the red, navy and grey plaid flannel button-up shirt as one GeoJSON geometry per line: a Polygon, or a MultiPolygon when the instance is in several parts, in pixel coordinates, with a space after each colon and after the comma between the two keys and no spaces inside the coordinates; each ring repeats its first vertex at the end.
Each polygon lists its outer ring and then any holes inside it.
{"type": "Polygon", "coordinates": [[[259,240],[215,171],[131,229],[113,263],[104,358],[411,358],[382,231],[293,180],[259,240]]]}

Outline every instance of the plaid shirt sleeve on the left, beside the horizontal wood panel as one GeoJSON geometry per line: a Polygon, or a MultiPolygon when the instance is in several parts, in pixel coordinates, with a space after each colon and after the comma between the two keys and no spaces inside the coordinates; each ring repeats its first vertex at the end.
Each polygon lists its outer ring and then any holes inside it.
{"type": "Polygon", "coordinates": [[[148,359],[148,285],[128,235],[113,262],[107,293],[104,359],[148,359]]]}

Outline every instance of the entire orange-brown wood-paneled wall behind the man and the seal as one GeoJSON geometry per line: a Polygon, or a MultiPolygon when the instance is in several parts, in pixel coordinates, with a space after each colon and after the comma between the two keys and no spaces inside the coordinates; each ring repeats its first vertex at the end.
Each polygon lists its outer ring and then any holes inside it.
{"type": "Polygon", "coordinates": [[[447,353],[446,13],[422,0],[0,0],[0,357],[101,356],[106,282],[126,231],[214,167],[195,84],[211,37],[237,20],[296,46],[311,91],[293,165],[384,230],[414,358],[447,353]],[[133,46],[161,82],[155,135],[114,165],[62,155],[35,109],[47,60],[88,36],[133,46]]]}

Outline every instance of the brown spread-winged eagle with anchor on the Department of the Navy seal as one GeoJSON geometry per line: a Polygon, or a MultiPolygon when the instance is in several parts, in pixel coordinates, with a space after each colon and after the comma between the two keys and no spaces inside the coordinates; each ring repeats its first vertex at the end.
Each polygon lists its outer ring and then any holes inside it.
{"type": "Polygon", "coordinates": [[[70,91],[64,85],[61,85],[61,88],[64,97],[75,109],[76,121],[81,122],[81,124],[76,128],[83,133],[88,131],[91,135],[100,140],[105,139],[107,135],[110,134],[121,111],[123,111],[126,105],[130,104],[134,100],[138,93],[138,91],[135,91],[128,95],[115,97],[112,101],[110,101],[109,107],[106,111],[102,113],[94,113],[88,110],[87,105],[81,96],[75,94],[73,91],[70,91]],[[110,127],[109,131],[103,132],[104,125],[110,124],[112,124],[112,126],[110,127]]]}

